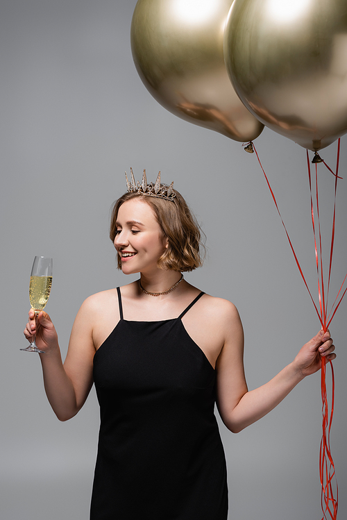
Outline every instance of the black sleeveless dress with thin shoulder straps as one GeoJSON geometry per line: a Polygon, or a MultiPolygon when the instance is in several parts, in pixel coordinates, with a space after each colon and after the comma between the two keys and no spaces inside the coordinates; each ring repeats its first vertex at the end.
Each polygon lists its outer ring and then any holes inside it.
{"type": "Polygon", "coordinates": [[[226,520],[215,371],[181,319],[123,317],[94,355],[101,426],[91,520],[226,520]]]}

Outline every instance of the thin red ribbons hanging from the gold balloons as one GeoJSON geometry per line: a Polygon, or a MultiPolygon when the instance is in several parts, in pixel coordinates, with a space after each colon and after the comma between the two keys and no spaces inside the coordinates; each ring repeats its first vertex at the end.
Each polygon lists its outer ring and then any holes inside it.
{"type": "MultiPolygon", "coordinates": [[[[328,170],[335,176],[335,199],[334,199],[334,211],[333,211],[333,216],[332,216],[332,233],[331,233],[331,241],[330,241],[328,285],[326,287],[326,290],[325,290],[325,283],[324,283],[324,276],[323,276],[321,223],[320,223],[320,217],[319,217],[318,169],[317,169],[317,164],[316,164],[316,171],[315,171],[315,176],[314,176],[315,183],[316,183],[316,189],[315,189],[315,197],[314,197],[314,196],[312,196],[312,176],[311,176],[310,159],[308,156],[308,151],[306,151],[307,170],[308,170],[310,196],[311,196],[311,219],[312,219],[312,230],[313,230],[313,235],[314,235],[314,251],[315,251],[315,255],[316,255],[316,271],[317,271],[318,296],[319,296],[319,305],[318,306],[314,302],[314,299],[310,292],[310,288],[308,287],[307,282],[305,280],[303,270],[301,269],[300,262],[298,261],[296,253],[294,251],[293,244],[291,243],[291,240],[289,238],[287,228],[286,228],[285,223],[280,214],[280,210],[278,208],[278,203],[276,201],[275,195],[273,194],[273,190],[271,189],[269,179],[267,178],[264,168],[262,167],[262,163],[260,162],[260,158],[257,154],[254,143],[252,143],[252,144],[253,144],[253,149],[257,155],[257,160],[258,160],[260,167],[262,168],[263,174],[265,176],[266,183],[271,192],[273,202],[275,203],[276,209],[278,211],[278,215],[280,215],[280,219],[282,221],[283,227],[285,228],[285,233],[287,235],[287,239],[289,241],[291,251],[294,255],[296,265],[298,266],[301,277],[303,278],[303,282],[305,283],[307,291],[310,294],[310,298],[312,300],[316,313],[319,317],[319,321],[325,332],[326,330],[328,330],[328,327],[330,326],[332,318],[335,316],[335,312],[339,308],[339,305],[340,305],[342,299],[344,298],[344,295],[347,292],[347,287],[344,290],[344,292],[342,292],[344,283],[347,278],[347,274],[346,274],[344,281],[342,282],[339,292],[337,294],[337,297],[336,297],[334,303],[332,304],[332,308],[330,309],[330,312],[328,314],[327,309],[328,309],[328,296],[329,296],[329,289],[330,289],[330,276],[331,276],[331,271],[332,271],[332,253],[334,251],[334,243],[335,243],[337,179],[341,178],[338,176],[339,158],[340,158],[340,140],[338,141],[338,145],[337,145],[336,173],[334,171],[332,171],[332,169],[330,169],[330,167],[328,167],[328,165],[326,165],[325,162],[323,161],[323,164],[325,165],[325,167],[327,167],[328,170]],[[315,215],[316,215],[316,222],[315,222],[315,215]],[[341,294],[341,292],[342,292],[342,294],[341,294]]],[[[329,410],[328,392],[327,392],[327,388],[326,388],[326,362],[327,362],[327,360],[325,358],[321,358],[321,399],[322,399],[322,414],[323,414],[323,423],[322,423],[323,433],[322,433],[321,447],[320,447],[320,452],[319,452],[319,476],[320,476],[320,480],[321,480],[321,508],[323,511],[322,520],[328,520],[329,517],[332,520],[336,520],[337,519],[337,505],[338,505],[338,487],[337,487],[337,483],[335,482],[335,487],[336,487],[336,498],[335,498],[334,486],[333,486],[333,481],[336,480],[335,465],[332,460],[332,455],[331,455],[331,451],[330,451],[330,430],[331,430],[331,426],[332,426],[332,417],[334,414],[334,404],[335,404],[335,376],[334,376],[334,369],[332,368],[332,362],[329,361],[331,375],[332,375],[332,398],[331,398],[332,403],[331,403],[331,407],[329,410]]]]}

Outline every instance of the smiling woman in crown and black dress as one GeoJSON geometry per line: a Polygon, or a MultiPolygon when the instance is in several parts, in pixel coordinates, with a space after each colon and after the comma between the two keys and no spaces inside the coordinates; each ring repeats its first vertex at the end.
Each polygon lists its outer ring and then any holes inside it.
{"type": "Polygon", "coordinates": [[[201,265],[200,232],[172,184],[135,183],[116,201],[110,237],[124,274],[138,281],[90,296],[62,364],[46,312],[36,334],[44,386],[58,419],[81,409],[92,383],[101,406],[92,520],[226,520],[226,462],[214,403],[232,432],[276,407],[305,376],[335,359],[321,330],[269,383],[248,392],[243,331],[229,301],[204,294],[182,271],[201,265]]]}

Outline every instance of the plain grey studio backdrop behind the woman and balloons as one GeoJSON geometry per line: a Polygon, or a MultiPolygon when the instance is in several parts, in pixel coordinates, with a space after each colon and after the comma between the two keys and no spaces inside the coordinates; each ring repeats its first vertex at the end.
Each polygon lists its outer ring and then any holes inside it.
{"type": "MultiPolygon", "coordinates": [[[[135,0],[3,0],[1,49],[1,442],[4,520],[86,520],[99,411],[94,389],[60,423],[46,401],[40,361],[26,344],[34,255],[54,258],[47,311],[62,354],[83,299],[128,283],[108,239],[124,171],[175,181],[208,237],[205,266],[187,279],[232,300],[246,335],[250,389],[294,358],[317,330],[276,208],[255,155],[182,121],[139,80],[130,53],[135,0]]],[[[256,140],[316,298],[305,151],[265,129],[256,140]]],[[[322,152],[335,164],[336,144],[322,152]]],[[[330,234],[334,180],[320,168],[322,227],[330,234]]],[[[346,174],[346,138],[341,172],[346,174]]],[[[332,294],[346,274],[346,180],[339,183],[332,294]]],[[[328,240],[325,250],[328,249],[328,240]]],[[[325,262],[327,259],[325,258],[325,262]]],[[[332,453],[339,518],[346,503],[346,302],[331,327],[337,346],[332,453]]],[[[319,519],[320,380],[316,374],[269,416],[238,435],[221,426],[230,519],[319,519]]]]}

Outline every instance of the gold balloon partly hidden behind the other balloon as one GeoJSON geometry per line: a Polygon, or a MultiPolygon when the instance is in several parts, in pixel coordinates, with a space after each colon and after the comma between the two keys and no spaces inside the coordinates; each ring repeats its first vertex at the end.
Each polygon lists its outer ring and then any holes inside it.
{"type": "Polygon", "coordinates": [[[170,112],[237,141],[264,125],[237,97],[223,59],[232,0],[139,0],[131,48],[140,78],[170,112]]]}

